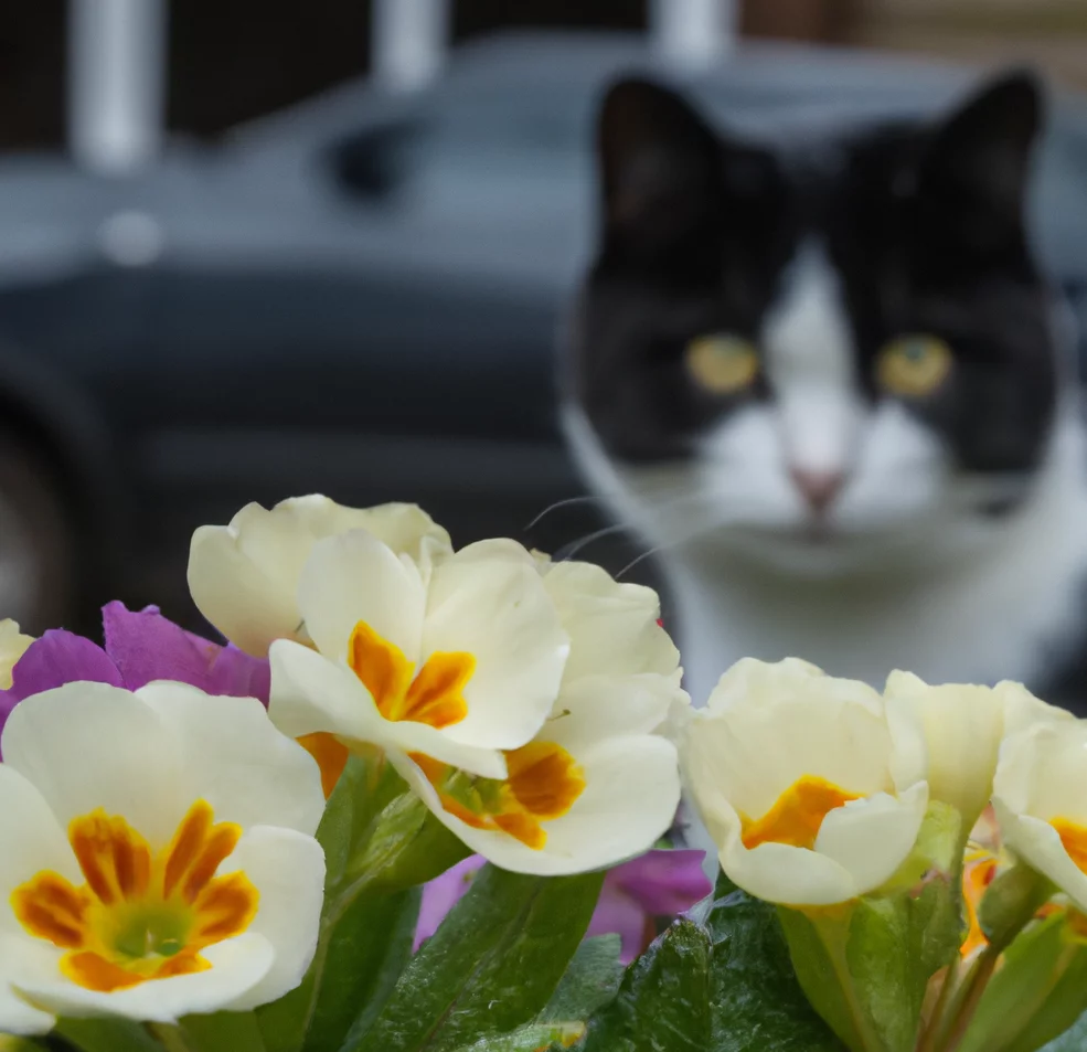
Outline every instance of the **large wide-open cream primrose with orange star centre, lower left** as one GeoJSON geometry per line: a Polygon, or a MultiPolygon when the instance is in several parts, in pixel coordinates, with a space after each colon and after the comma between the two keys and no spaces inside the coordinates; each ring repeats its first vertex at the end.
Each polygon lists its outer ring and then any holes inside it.
{"type": "Polygon", "coordinates": [[[259,702],[179,683],[23,699],[0,765],[0,1030],[247,1010],[312,958],[317,765],[259,702]]]}

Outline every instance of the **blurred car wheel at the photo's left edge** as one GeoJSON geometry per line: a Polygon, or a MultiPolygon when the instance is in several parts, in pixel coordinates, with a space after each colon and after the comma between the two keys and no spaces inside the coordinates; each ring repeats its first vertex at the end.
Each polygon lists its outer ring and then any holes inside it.
{"type": "Polygon", "coordinates": [[[50,460],[0,436],[0,618],[39,635],[76,616],[75,532],[50,460]]]}

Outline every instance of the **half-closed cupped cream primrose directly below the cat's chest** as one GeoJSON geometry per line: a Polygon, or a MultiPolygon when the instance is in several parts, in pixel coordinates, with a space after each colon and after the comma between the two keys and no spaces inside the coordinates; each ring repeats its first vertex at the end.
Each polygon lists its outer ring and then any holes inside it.
{"type": "Polygon", "coordinates": [[[795,658],[733,666],[682,754],[724,871],[768,902],[832,905],[884,884],[928,805],[925,780],[893,774],[881,697],[795,658]]]}

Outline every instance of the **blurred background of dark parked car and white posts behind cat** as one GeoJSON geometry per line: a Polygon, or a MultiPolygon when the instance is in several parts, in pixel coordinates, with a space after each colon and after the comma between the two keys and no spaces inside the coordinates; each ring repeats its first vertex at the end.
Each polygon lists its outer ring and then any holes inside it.
{"type": "Polygon", "coordinates": [[[1059,89],[1035,223],[1078,302],[1083,0],[0,6],[0,616],[192,624],[193,528],[311,491],[617,571],[554,393],[604,85],[650,68],[766,130],[1011,62],[1059,89]]]}

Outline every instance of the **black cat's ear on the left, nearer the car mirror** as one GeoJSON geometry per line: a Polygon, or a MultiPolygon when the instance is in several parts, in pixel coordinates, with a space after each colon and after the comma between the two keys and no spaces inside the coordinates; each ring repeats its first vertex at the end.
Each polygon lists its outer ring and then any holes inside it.
{"type": "Polygon", "coordinates": [[[721,142],[674,92],[641,78],[612,85],[597,127],[600,190],[609,227],[708,205],[721,179],[721,142]],[[678,210],[678,211],[676,211],[678,210]]]}

